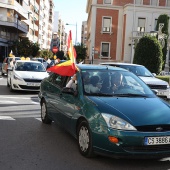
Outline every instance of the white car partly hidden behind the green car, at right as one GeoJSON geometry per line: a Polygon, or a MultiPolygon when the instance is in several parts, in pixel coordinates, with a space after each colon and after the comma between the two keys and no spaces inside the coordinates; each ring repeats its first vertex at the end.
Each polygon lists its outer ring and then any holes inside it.
{"type": "Polygon", "coordinates": [[[127,69],[140,77],[151,89],[157,91],[157,95],[166,100],[170,99],[170,87],[166,81],[156,78],[146,67],[138,64],[106,62],[101,65],[109,65],[127,69]]]}

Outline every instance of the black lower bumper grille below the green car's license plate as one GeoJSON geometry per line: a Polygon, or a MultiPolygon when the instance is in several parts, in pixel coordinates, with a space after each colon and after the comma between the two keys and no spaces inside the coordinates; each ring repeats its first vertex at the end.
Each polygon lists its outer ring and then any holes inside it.
{"type": "Polygon", "coordinates": [[[124,146],[124,150],[128,152],[157,152],[170,151],[170,145],[154,145],[154,146],[124,146]]]}

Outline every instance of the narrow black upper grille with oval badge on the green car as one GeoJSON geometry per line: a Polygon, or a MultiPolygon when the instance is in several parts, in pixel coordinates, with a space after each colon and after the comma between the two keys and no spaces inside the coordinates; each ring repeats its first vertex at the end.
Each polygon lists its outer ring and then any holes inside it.
{"type": "Polygon", "coordinates": [[[170,125],[154,125],[154,126],[136,126],[141,132],[166,132],[170,131],[170,125]]]}

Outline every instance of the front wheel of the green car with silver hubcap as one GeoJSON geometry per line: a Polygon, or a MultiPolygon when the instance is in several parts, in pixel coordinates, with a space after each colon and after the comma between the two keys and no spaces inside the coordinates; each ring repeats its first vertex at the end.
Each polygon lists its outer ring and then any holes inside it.
{"type": "Polygon", "coordinates": [[[80,153],[87,158],[94,157],[95,154],[93,152],[92,136],[87,121],[82,121],[79,124],[77,136],[80,153]]]}

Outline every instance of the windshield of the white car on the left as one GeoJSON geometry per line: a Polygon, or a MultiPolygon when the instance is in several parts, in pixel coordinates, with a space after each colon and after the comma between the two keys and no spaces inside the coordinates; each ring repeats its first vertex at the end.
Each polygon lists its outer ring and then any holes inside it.
{"type": "Polygon", "coordinates": [[[17,62],[15,65],[16,71],[34,71],[34,72],[45,72],[45,68],[41,63],[33,62],[17,62]]]}

